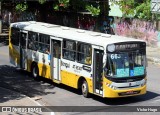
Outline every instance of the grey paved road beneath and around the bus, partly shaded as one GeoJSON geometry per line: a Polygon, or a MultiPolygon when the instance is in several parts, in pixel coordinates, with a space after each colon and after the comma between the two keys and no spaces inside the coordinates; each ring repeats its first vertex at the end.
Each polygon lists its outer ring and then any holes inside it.
{"type": "MultiPolygon", "coordinates": [[[[147,94],[144,96],[103,99],[92,95],[91,98],[84,98],[75,89],[64,85],[56,85],[50,80],[41,78],[39,81],[29,77],[29,73],[21,71],[9,64],[8,47],[0,47],[0,87],[5,87],[22,94],[25,94],[42,105],[46,106],[104,106],[115,109],[114,106],[160,106],[160,66],[148,64],[147,94]]],[[[16,97],[14,97],[16,99],[16,97]]],[[[7,101],[7,100],[5,100],[7,101]]],[[[93,109],[93,108],[92,108],[93,109]]],[[[127,109],[127,108],[126,108],[127,109]]],[[[97,111],[95,108],[92,111],[97,111]]],[[[103,111],[103,110],[102,110],[103,111]]],[[[116,111],[116,109],[115,109],[116,111]]],[[[97,113],[61,113],[70,114],[97,114],[97,113]]],[[[106,113],[98,113],[106,114],[106,113]]],[[[107,114],[116,114],[115,112],[107,114]]],[[[127,113],[118,113],[127,114],[127,113]]],[[[133,113],[137,114],[137,113],[133,113]]],[[[144,114],[144,113],[143,113],[144,114]]],[[[150,114],[150,113],[146,113],[150,114]]],[[[156,113],[158,115],[158,113],[156,113]]]]}

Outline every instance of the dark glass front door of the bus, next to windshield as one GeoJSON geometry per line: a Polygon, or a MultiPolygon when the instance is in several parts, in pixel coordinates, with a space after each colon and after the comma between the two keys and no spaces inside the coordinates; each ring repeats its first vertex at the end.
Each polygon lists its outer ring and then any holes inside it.
{"type": "Polygon", "coordinates": [[[94,93],[103,95],[103,50],[94,49],[93,55],[93,86],[94,93]]]}

